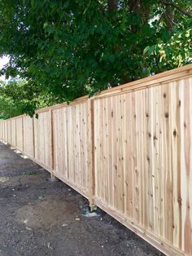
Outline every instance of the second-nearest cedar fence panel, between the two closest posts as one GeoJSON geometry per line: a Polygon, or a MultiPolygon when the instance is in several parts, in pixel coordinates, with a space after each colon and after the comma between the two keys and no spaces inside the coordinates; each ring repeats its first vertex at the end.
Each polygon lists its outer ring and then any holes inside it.
{"type": "Polygon", "coordinates": [[[89,194],[88,100],[53,109],[54,174],[89,194]]]}

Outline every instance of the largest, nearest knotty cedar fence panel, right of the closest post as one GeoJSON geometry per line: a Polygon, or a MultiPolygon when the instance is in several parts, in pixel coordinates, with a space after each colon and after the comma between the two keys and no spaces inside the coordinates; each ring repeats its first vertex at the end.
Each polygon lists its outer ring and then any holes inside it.
{"type": "Polygon", "coordinates": [[[165,253],[192,254],[190,113],[192,78],[94,100],[95,203],[165,253]]]}

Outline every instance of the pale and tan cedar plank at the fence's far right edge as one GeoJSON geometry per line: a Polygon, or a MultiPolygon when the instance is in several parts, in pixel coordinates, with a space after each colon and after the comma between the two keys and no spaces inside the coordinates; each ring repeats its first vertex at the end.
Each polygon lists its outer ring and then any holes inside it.
{"type": "Polygon", "coordinates": [[[192,110],[192,90],[191,80],[180,82],[179,87],[182,90],[181,99],[181,132],[182,132],[182,161],[181,161],[181,240],[182,249],[189,255],[192,255],[192,229],[191,229],[191,110],[192,110]],[[183,100],[185,99],[185,101],[183,100]],[[183,112],[184,110],[184,112],[183,112]]]}

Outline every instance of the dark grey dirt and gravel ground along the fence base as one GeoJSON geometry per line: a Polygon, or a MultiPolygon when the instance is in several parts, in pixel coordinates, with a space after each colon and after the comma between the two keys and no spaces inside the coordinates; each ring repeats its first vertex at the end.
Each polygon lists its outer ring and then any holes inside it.
{"type": "Polygon", "coordinates": [[[33,161],[0,143],[0,256],[163,255],[33,161]]]}

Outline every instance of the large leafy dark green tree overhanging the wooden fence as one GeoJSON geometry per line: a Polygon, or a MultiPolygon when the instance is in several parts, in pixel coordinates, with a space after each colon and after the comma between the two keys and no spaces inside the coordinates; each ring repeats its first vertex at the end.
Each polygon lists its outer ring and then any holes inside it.
{"type": "Polygon", "coordinates": [[[190,29],[190,0],[0,0],[0,7],[0,55],[11,56],[2,73],[57,103],[190,61],[182,50],[180,63],[174,57],[177,35],[190,29]]]}

